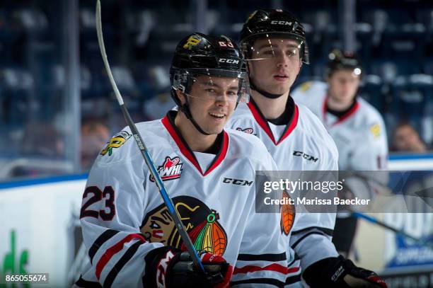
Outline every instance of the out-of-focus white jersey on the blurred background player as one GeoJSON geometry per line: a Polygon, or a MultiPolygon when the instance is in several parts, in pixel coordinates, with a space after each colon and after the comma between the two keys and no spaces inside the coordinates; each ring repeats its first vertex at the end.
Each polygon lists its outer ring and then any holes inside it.
{"type": "Polygon", "coordinates": [[[366,100],[357,103],[342,117],[326,112],[328,84],[311,81],[292,93],[296,103],[306,105],[323,122],[333,137],[340,155],[342,171],[386,170],[388,142],[380,113],[366,100]]]}

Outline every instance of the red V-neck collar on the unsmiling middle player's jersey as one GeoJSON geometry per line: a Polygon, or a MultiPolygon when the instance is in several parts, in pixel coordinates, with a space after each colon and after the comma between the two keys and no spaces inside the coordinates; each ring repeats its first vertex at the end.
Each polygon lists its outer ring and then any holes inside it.
{"type": "MultiPolygon", "coordinates": [[[[291,100],[290,96],[287,99],[288,101],[291,100]]],[[[284,132],[282,133],[282,136],[279,138],[278,142],[274,138],[274,134],[272,134],[272,130],[270,129],[269,123],[267,122],[265,116],[263,116],[262,112],[258,108],[258,105],[255,104],[253,98],[250,98],[250,102],[248,102],[248,108],[250,108],[251,113],[253,113],[253,117],[256,122],[258,122],[258,125],[262,127],[262,129],[265,131],[268,137],[274,142],[275,145],[280,144],[283,142],[284,139],[286,139],[291,132],[294,130],[296,125],[298,125],[299,120],[299,109],[298,105],[294,104],[294,111],[291,114],[291,119],[289,120],[289,123],[287,123],[286,128],[284,129],[284,132]]]]}

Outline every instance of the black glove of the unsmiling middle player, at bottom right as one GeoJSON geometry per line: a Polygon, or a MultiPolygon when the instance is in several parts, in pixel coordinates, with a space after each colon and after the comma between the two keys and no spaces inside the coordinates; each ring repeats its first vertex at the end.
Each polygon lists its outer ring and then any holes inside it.
{"type": "Polygon", "coordinates": [[[311,287],[387,288],[375,272],[357,267],[342,255],[325,258],[310,265],[302,275],[311,287]]]}

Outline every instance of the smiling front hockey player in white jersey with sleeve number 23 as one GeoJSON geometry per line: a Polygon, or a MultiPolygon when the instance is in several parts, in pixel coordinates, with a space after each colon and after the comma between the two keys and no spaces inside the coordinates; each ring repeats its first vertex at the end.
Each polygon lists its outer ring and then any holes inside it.
{"type": "Polygon", "coordinates": [[[259,139],[224,130],[248,100],[241,52],[224,36],[194,33],[171,65],[179,111],[137,125],[207,275],[192,264],[129,128],[88,176],[81,226],[90,263],[78,287],[260,287],[287,275],[279,214],[255,214],[255,170],[277,166],[259,139]],[[236,267],[238,257],[245,258],[236,267]],[[233,269],[234,268],[234,269],[233,269]],[[255,277],[254,280],[248,280],[255,277]],[[240,284],[240,283],[238,283],[240,284]]]}

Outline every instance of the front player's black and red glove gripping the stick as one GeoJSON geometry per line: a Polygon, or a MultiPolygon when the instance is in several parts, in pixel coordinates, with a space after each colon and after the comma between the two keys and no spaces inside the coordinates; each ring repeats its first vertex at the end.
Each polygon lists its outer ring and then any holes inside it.
{"type": "Polygon", "coordinates": [[[206,275],[196,269],[190,254],[173,247],[161,247],[146,255],[146,287],[229,287],[232,269],[219,255],[200,251],[206,275]]]}

